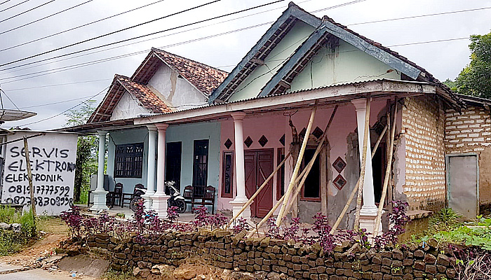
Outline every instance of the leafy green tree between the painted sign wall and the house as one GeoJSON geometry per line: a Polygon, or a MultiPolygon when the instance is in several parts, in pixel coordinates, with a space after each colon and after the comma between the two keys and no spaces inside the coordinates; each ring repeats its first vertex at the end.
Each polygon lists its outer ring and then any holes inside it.
{"type": "MultiPolygon", "coordinates": [[[[94,111],[95,100],[83,103],[79,110],[70,110],[67,116],[67,126],[83,125],[94,111]]],[[[74,202],[85,203],[86,196],[81,196],[82,190],[90,188],[90,174],[97,171],[97,137],[81,136],[76,143],[74,202]]]]}

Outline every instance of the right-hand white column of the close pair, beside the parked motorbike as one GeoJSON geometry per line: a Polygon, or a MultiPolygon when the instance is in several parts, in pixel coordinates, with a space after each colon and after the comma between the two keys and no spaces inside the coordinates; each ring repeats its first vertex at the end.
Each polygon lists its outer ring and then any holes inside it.
{"type": "Polygon", "coordinates": [[[156,124],[159,131],[159,146],[157,148],[157,190],[152,196],[152,209],[154,209],[159,217],[167,216],[167,200],[170,197],[165,193],[166,179],[166,130],[169,125],[165,123],[156,124]]]}

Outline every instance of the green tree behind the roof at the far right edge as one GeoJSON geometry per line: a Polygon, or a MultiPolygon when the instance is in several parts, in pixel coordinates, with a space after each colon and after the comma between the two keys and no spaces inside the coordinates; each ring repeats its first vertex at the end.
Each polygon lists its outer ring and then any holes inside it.
{"type": "Polygon", "coordinates": [[[472,35],[471,63],[455,80],[457,92],[476,97],[491,98],[491,32],[472,35]]]}

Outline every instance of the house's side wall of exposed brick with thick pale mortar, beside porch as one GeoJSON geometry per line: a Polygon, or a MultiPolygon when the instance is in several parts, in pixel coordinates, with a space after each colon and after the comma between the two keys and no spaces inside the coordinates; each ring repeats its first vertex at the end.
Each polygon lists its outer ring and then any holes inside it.
{"type": "Polygon", "coordinates": [[[411,210],[445,207],[445,111],[437,97],[405,99],[405,186],[411,210]]]}

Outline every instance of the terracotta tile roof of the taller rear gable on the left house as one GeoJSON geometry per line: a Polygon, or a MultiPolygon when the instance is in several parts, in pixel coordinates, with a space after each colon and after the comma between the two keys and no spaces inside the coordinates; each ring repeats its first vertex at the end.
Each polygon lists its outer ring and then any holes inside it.
{"type": "Polygon", "coordinates": [[[146,85],[162,63],[166,63],[206,96],[210,95],[229,75],[225,71],[201,62],[174,55],[165,50],[152,48],[152,51],[149,52],[133,76],[131,76],[131,80],[146,85]]]}

